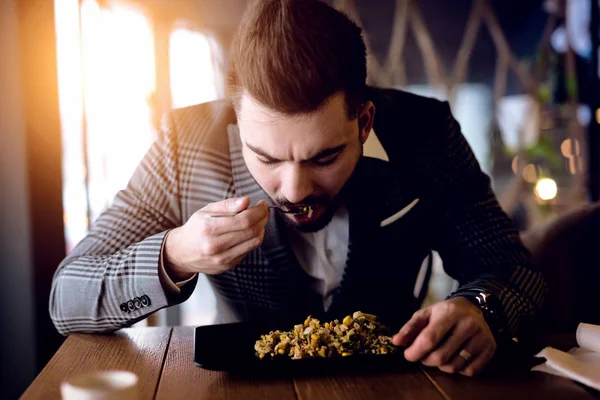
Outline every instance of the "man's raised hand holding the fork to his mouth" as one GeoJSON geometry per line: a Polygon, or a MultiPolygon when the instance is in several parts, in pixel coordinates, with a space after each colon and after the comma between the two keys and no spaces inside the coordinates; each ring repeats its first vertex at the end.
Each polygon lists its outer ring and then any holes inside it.
{"type": "Polygon", "coordinates": [[[167,236],[163,260],[174,281],[195,273],[220,274],[236,266],[262,244],[269,207],[264,200],[248,208],[250,198],[227,199],[196,211],[185,225],[167,236]],[[213,218],[214,214],[239,212],[213,218]]]}

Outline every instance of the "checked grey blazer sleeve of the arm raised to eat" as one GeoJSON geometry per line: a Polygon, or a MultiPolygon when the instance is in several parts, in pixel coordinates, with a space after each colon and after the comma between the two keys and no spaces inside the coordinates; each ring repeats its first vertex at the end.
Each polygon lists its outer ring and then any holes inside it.
{"type": "Polygon", "coordinates": [[[181,221],[177,162],[171,124],[59,265],[49,307],[61,334],[114,331],[191,295],[195,280],[174,294],[159,273],[165,235],[181,221]]]}

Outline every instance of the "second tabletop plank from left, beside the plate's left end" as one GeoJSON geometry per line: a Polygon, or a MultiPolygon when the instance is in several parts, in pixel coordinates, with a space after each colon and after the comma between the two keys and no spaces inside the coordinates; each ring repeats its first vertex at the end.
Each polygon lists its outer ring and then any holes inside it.
{"type": "Polygon", "coordinates": [[[194,329],[176,327],[157,399],[295,399],[291,379],[252,379],[194,365],[194,329]]]}

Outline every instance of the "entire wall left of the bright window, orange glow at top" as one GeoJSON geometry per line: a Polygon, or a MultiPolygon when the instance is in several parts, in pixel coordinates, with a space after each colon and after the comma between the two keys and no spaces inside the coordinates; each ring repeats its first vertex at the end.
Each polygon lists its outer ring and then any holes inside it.
{"type": "Polygon", "coordinates": [[[0,398],[62,343],[48,315],[65,255],[54,2],[0,1],[0,398]]]}

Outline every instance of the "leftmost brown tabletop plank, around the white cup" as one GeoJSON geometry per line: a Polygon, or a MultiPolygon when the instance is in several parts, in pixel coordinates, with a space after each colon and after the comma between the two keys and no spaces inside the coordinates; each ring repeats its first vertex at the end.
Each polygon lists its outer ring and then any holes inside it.
{"type": "Polygon", "coordinates": [[[92,371],[127,370],[140,379],[140,399],[154,397],[171,328],[122,329],[111,335],[70,335],[22,399],[60,399],[65,379],[92,371]]]}

